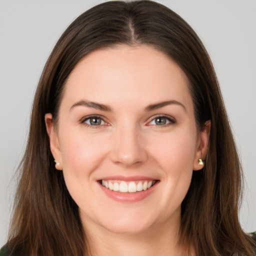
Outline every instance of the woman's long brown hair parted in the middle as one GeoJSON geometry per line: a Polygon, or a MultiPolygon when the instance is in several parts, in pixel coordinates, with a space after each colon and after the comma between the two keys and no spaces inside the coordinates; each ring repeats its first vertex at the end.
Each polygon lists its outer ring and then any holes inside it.
{"type": "Polygon", "coordinates": [[[109,1],[85,11],[52,50],[33,101],[8,248],[13,255],[88,254],[78,207],[54,168],[44,115],[57,122],[63,86],[82,57],[116,44],[149,44],[170,56],[189,79],[198,129],[211,120],[205,167],[193,173],[181,205],[179,242],[193,245],[198,256],[252,255],[253,241],[238,221],[240,163],[209,56],[180,16],[149,0],[109,1]]]}

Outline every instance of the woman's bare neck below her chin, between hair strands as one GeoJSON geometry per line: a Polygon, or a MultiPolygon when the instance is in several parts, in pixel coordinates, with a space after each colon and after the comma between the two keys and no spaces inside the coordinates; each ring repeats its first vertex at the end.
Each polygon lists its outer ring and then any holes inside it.
{"type": "Polygon", "coordinates": [[[97,224],[86,221],[90,256],[181,256],[184,247],[178,244],[179,223],[166,223],[147,228],[140,233],[113,233],[97,224]]]}

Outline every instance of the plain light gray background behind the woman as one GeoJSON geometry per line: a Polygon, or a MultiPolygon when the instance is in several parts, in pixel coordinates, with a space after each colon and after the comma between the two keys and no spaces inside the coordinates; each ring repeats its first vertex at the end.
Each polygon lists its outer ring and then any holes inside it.
{"type": "MultiPolygon", "coordinates": [[[[99,0],[0,0],[0,246],[6,241],[30,106],[66,26],[99,0]]],[[[159,0],[198,33],[213,61],[245,174],[240,221],[256,230],[256,1],[159,0]]],[[[42,194],[43,196],[43,194],[42,194]]]]}

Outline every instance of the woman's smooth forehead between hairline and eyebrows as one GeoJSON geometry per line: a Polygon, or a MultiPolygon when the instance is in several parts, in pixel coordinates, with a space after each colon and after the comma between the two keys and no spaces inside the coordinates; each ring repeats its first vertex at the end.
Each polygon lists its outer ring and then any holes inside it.
{"type": "Polygon", "coordinates": [[[189,103],[188,80],[182,69],[152,46],[118,45],[83,57],[70,73],[63,101],[80,99],[123,105],[145,105],[175,99],[189,103]]]}

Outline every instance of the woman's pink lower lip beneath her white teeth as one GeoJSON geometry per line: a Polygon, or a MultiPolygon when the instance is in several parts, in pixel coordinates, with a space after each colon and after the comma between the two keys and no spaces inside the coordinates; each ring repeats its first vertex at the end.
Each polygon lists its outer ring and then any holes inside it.
{"type": "Polygon", "coordinates": [[[122,193],[122,192],[110,190],[110,189],[102,186],[99,182],[97,182],[97,183],[100,186],[100,188],[102,189],[102,191],[111,199],[114,199],[116,201],[121,201],[121,202],[136,202],[136,201],[143,200],[144,198],[149,196],[154,191],[154,189],[157,186],[157,184],[159,183],[159,181],[157,180],[155,182],[155,184],[152,185],[150,188],[148,188],[146,190],[138,191],[135,193],[128,193],[128,192],[122,193]]]}

